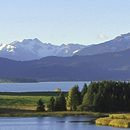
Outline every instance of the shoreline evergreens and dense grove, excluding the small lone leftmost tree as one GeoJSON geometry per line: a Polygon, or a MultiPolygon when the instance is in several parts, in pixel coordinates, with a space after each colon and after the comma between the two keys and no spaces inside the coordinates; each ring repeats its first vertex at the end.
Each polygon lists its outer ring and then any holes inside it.
{"type": "Polygon", "coordinates": [[[81,91],[79,86],[75,85],[70,88],[67,100],[61,93],[56,99],[50,98],[47,108],[50,111],[130,111],[130,83],[97,81],[88,86],[85,83],[81,91]]]}

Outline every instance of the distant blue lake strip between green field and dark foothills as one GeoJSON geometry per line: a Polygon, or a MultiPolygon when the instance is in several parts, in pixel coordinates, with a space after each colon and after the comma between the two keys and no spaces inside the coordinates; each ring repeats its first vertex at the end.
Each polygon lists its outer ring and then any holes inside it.
{"type": "Polygon", "coordinates": [[[84,83],[90,84],[90,81],[82,82],[39,82],[39,83],[0,83],[0,92],[36,92],[36,91],[55,91],[60,88],[62,91],[69,91],[74,85],[78,85],[82,90],[84,83]]]}

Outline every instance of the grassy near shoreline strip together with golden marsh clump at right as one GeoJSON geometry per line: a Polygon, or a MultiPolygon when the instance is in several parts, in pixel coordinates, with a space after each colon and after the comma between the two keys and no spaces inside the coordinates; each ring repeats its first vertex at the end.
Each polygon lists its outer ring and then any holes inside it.
{"type": "Polygon", "coordinates": [[[96,118],[92,123],[98,126],[111,126],[117,128],[130,128],[130,113],[110,114],[99,112],[81,111],[45,111],[20,110],[0,108],[0,117],[67,117],[67,116],[87,116],[96,118]]]}

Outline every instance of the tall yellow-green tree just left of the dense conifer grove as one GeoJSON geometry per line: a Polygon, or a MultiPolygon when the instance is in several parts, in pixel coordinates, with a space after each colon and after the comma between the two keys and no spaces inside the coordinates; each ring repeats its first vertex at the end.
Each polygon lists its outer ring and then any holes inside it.
{"type": "Polygon", "coordinates": [[[77,109],[77,106],[82,103],[81,93],[78,85],[75,85],[71,89],[71,96],[68,98],[68,100],[70,101],[70,108],[74,111],[77,109]]]}

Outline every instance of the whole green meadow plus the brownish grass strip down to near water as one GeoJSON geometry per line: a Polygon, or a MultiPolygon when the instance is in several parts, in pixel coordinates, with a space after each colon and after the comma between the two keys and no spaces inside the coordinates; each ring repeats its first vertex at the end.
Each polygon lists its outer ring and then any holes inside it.
{"type": "MultiPolygon", "coordinates": [[[[67,92],[63,92],[67,98],[67,92]]],[[[101,117],[106,114],[94,112],[36,112],[37,101],[41,98],[47,105],[51,96],[56,98],[60,92],[26,92],[10,93],[0,92],[0,117],[63,117],[63,116],[91,116],[101,117]]]]}

